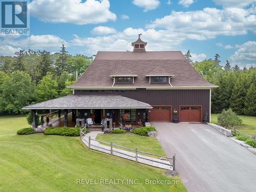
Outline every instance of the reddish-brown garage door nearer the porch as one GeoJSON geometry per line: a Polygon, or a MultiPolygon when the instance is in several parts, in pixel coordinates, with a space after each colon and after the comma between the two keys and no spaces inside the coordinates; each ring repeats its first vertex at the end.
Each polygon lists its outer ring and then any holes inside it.
{"type": "Polygon", "coordinates": [[[153,106],[153,109],[150,112],[150,121],[170,121],[170,106],[153,106]]]}

